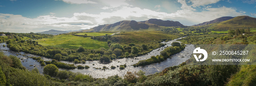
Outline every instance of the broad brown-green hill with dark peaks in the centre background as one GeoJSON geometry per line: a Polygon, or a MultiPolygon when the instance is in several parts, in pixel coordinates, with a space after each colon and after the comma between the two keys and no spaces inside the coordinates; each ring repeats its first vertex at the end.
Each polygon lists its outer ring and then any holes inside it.
{"type": "Polygon", "coordinates": [[[147,30],[147,31],[152,31],[152,30],[157,30],[161,28],[165,28],[165,26],[180,26],[180,27],[185,27],[184,25],[180,24],[178,21],[163,21],[163,20],[158,20],[158,19],[150,19],[147,21],[129,21],[129,20],[124,20],[124,21],[119,21],[114,24],[104,24],[104,25],[99,25],[91,29],[87,30],[81,30],[78,32],[102,32],[102,31],[112,31],[112,32],[120,32],[120,31],[138,31],[138,30],[147,30]]]}

